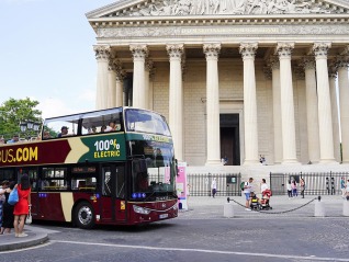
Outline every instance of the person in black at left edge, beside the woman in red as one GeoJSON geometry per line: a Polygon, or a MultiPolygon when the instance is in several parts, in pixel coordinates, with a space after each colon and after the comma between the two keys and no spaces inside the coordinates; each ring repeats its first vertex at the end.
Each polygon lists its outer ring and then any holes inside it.
{"type": "Polygon", "coordinates": [[[8,203],[9,195],[11,191],[14,187],[14,182],[4,181],[5,183],[5,190],[3,192],[3,195],[5,197],[5,201],[3,203],[2,207],[2,227],[0,230],[0,235],[3,233],[11,233],[11,228],[13,228],[13,221],[14,221],[14,215],[13,215],[13,205],[10,205],[8,203]]]}

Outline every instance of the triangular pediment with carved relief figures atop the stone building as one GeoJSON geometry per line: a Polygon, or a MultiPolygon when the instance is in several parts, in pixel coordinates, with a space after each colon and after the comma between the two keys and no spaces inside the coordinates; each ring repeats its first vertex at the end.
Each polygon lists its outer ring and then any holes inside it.
{"type": "Polygon", "coordinates": [[[348,0],[123,0],[91,11],[87,18],[347,13],[348,0]]]}

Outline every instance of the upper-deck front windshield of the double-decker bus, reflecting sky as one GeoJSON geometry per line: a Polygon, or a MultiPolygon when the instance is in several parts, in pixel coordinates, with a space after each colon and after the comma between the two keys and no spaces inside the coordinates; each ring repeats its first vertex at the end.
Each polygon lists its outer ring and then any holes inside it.
{"type": "Polygon", "coordinates": [[[125,111],[125,121],[127,132],[171,135],[165,117],[149,111],[127,109],[125,111]]]}

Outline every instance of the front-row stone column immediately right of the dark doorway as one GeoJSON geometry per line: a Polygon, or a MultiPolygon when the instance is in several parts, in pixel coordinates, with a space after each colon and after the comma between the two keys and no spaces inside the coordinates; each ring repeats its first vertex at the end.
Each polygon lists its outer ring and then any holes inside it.
{"type": "Polygon", "coordinates": [[[244,124],[245,124],[245,161],[244,164],[259,163],[258,121],[255,55],[257,43],[240,43],[239,52],[244,60],[244,124]]]}

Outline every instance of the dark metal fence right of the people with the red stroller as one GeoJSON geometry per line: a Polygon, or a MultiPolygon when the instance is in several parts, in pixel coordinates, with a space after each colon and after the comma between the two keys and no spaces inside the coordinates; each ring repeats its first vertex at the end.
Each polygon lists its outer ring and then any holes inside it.
{"type": "Polygon", "coordinates": [[[304,179],[305,195],[338,195],[341,194],[341,178],[347,181],[349,172],[270,173],[270,189],[273,195],[284,195],[289,181],[295,180],[299,184],[300,179],[304,179]]]}

